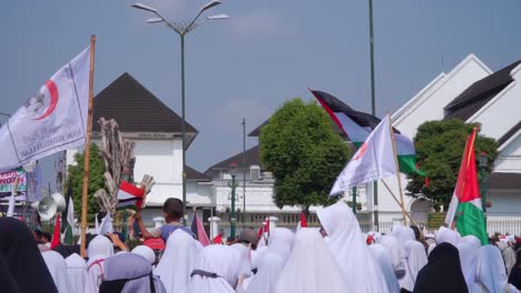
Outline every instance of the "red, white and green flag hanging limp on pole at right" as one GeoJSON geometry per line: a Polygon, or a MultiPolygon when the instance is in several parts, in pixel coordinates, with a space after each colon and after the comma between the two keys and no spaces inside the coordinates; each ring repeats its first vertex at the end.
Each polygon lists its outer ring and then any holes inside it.
{"type": "Polygon", "coordinates": [[[476,129],[472,131],[466,140],[456,186],[446,213],[445,223],[449,228],[455,228],[462,236],[474,235],[481,240],[482,245],[485,245],[489,243],[489,236],[486,234],[486,222],[483,210],[481,209],[478,173],[475,171],[475,135],[476,129]]]}

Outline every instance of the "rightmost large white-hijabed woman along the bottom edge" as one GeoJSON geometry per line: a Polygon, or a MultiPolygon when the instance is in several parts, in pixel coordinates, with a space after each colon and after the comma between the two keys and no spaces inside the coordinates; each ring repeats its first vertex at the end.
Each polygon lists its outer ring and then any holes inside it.
{"type": "Polygon", "coordinates": [[[500,250],[493,245],[484,245],[478,252],[475,282],[483,293],[519,292],[508,284],[503,257],[500,250]]]}

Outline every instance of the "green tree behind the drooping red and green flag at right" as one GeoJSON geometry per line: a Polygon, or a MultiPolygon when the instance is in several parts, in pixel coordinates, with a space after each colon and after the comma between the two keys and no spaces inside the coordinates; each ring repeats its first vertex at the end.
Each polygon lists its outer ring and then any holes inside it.
{"type": "MultiPolygon", "coordinates": [[[[458,180],[465,141],[478,123],[464,123],[461,120],[429,121],[417,128],[414,144],[416,162],[425,172],[425,178],[409,174],[407,191],[411,195],[425,195],[439,210],[451,202],[458,180]]],[[[498,158],[498,142],[494,139],[478,134],[475,142],[476,160],[481,151],[488,153],[488,170],[492,171],[498,158]]],[[[478,163],[478,162],[476,162],[478,163]]]]}

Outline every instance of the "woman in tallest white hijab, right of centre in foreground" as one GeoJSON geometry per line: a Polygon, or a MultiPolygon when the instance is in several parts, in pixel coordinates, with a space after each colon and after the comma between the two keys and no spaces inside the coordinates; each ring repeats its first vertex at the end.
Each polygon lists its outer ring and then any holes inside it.
{"type": "Polygon", "coordinates": [[[371,255],[358,221],[347,204],[335,203],[317,212],[330,235],[328,247],[348,285],[346,292],[389,292],[382,269],[371,255]]]}

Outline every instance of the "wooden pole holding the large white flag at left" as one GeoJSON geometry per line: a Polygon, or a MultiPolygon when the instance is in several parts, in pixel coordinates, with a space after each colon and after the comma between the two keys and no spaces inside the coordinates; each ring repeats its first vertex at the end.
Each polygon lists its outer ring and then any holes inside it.
{"type": "Polygon", "coordinates": [[[87,256],[87,193],[89,189],[89,160],[90,160],[90,135],[92,134],[92,99],[94,99],[94,65],[96,51],[96,36],[90,36],[90,65],[89,65],[89,108],[87,114],[87,133],[85,139],[83,158],[83,190],[81,193],[81,257],[87,256]]]}

